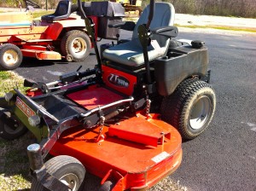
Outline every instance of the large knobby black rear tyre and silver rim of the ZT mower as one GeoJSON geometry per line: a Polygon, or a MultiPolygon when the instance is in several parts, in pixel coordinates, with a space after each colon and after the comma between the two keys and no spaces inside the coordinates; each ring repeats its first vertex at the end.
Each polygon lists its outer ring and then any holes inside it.
{"type": "Polygon", "coordinates": [[[212,86],[198,79],[179,84],[171,96],[163,99],[161,115],[180,132],[183,139],[194,139],[210,124],[216,96],[212,86]]]}

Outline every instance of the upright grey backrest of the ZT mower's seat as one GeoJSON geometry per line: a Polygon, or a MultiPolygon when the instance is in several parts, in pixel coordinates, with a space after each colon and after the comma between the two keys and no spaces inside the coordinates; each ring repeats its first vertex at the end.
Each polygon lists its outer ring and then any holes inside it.
{"type": "MultiPolygon", "coordinates": [[[[148,22],[149,5],[143,10],[143,14],[137,21],[132,34],[132,39],[138,38],[137,28],[138,26],[148,22]]],[[[160,26],[173,26],[174,23],[175,9],[171,3],[155,3],[154,17],[151,21],[150,28],[154,29],[160,26]]],[[[166,47],[169,43],[168,38],[160,35],[154,35],[153,39],[157,40],[160,47],[166,47]]]]}

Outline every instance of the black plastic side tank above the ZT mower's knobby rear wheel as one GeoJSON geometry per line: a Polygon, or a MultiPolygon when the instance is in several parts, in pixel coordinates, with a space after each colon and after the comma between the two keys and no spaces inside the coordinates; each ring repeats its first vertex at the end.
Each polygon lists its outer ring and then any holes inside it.
{"type": "Polygon", "coordinates": [[[185,78],[207,74],[207,47],[193,49],[191,46],[169,49],[167,56],[154,64],[156,87],[161,96],[169,96],[185,78]]]}

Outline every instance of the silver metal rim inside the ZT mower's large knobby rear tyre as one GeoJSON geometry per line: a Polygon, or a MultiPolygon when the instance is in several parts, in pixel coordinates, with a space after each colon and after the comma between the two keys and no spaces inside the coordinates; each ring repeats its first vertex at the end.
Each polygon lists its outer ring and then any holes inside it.
{"type": "Polygon", "coordinates": [[[200,130],[204,124],[206,124],[207,119],[211,112],[211,101],[207,96],[201,96],[195,101],[194,105],[191,107],[189,114],[189,124],[193,130],[200,130]]]}

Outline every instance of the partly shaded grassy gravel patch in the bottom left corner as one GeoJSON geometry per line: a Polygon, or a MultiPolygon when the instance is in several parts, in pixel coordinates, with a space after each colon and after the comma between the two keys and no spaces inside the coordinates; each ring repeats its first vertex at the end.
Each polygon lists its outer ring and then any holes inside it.
{"type": "Polygon", "coordinates": [[[0,190],[30,190],[32,177],[26,156],[30,143],[30,134],[11,142],[0,138],[0,190]]]}

